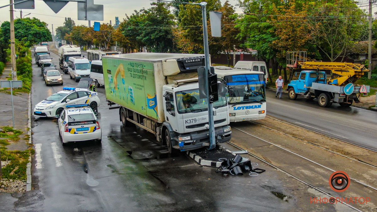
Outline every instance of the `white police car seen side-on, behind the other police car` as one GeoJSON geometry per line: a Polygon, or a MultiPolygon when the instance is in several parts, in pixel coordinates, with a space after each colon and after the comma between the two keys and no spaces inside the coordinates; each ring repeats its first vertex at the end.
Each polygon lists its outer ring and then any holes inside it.
{"type": "Polygon", "coordinates": [[[70,104],[89,104],[93,111],[97,111],[100,98],[98,98],[97,92],[81,91],[80,88],[63,88],[63,91],[56,92],[36,104],[34,117],[55,117],[60,115],[66,105],[70,104]]]}

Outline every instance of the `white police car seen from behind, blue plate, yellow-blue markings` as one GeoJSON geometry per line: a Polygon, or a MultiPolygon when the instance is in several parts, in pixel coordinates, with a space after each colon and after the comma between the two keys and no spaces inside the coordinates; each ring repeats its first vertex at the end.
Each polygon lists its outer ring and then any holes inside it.
{"type": "Polygon", "coordinates": [[[58,118],[61,144],[75,141],[96,140],[101,142],[102,132],[100,123],[89,104],[67,105],[58,118]]]}

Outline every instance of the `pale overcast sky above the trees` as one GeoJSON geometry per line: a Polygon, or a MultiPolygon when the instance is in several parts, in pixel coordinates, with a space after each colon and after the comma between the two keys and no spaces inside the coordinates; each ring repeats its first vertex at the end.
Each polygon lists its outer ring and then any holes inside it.
{"type": "MultiPolygon", "coordinates": [[[[0,6],[9,4],[9,0],[0,0],[0,6]]],[[[225,0],[221,0],[222,3],[225,0]]],[[[363,9],[367,9],[368,7],[368,0],[360,0],[361,6],[363,9]]],[[[104,21],[101,23],[110,23],[112,20],[112,24],[115,24],[115,16],[119,17],[119,20],[122,21],[125,17],[125,14],[132,14],[132,12],[136,9],[139,10],[141,8],[149,8],[150,0],[94,0],[95,4],[103,4],[104,5],[104,21]]],[[[237,0],[229,0],[229,3],[233,6],[236,5],[237,0]]],[[[373,12],[375,12],[376,7],[374,6],[373,12]]],[[[20,17],[19,9],[15,9],[14,18],[20,17]]],[[[79,21],[77,20],[77,2],[69,2],[63,9],[61,9],[57,14],[52,11],[46,3],[42,0],[35,0],[35,9],[25,9],[22,10],[23,15],[26,17],[36,17],[46,23],[48,23],[48,27],[51,31],[51,25],[54,25],[54,29],[58,26],[62,26],[64,22],[64,17],[72,18],[76,25],[88,25],[87,21],[79,21]]],[[[236,7],[236,12],[242,12],[239,8],[236,7]]],[[[1,8],[0,9],[0,21],[9,21],[9,7],[1,8]]],[[[93,22],[93,21],[92,21],[93,22]]],[[[93,25],[93,23],[92,23],[93,25]]]]}

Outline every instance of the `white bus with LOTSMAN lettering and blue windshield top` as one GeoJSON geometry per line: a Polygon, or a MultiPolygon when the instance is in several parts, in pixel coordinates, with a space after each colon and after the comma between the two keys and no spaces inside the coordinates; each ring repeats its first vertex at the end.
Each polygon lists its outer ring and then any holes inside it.
{"type": "Polygon", "coordinates": [[[266,117],[266,88],[263,72],[215,66],[215,74],[228,87],[230,122],[266,117]]]}

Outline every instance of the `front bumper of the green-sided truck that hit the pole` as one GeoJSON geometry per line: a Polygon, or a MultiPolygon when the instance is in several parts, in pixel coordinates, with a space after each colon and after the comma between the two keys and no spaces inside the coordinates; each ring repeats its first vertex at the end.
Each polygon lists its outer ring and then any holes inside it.
{"type": "MultiPolygon", "coordinates": [[[[201,147],[209,146],[209,131],[192,132],[189,134],[180,135],[175,137],[176,145],[173,148],[184,151],[190,151],[193,149],[199,149],[201,147]],[[191,140],[179,141],[179,137],[191,137],[191,140]],[[178,144],[178,145],[177,145],[178,144]]],[[[224,143],[231,139],[231,128],[230,126],[222,126],[215,128],[215,139],[216,143],[224,143]]]]}

